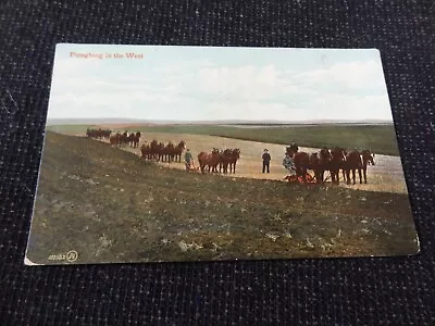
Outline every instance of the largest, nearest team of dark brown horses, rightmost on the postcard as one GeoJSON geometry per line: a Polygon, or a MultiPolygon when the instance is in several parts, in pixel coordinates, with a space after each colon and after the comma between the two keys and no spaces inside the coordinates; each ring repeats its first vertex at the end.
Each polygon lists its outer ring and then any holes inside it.
{"type": "Polygon", "coordinates": [[[333,149],[323,148],[315,153],[300,152],[295,147],[287,147],[287,152],[294,155],[296,174],[301,176],[307,181],[307,171],[311,170],[314,173],[316,183],[324,183],[324,174],[330,172],[331,180],[334,184],[339,184],[339,172],[343,173],[343,179],[353,185],[356,184],[356,173],[359,174],[360,184],[362,176],[366,184],[368,165],[374,165],[374,153],[370,150],[352,150],[346,151],[343,148],[336,147],[333,149]],[[350,177],[350,173],[352,176],[350,177]]]}

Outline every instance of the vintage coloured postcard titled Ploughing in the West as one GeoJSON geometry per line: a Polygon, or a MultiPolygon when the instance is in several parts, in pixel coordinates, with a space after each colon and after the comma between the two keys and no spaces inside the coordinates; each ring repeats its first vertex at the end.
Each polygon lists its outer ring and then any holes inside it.
{"type": "Polygon", "coordinates": [[[57,46],[25,264],[418,252],[377,50],[57,46]]]}

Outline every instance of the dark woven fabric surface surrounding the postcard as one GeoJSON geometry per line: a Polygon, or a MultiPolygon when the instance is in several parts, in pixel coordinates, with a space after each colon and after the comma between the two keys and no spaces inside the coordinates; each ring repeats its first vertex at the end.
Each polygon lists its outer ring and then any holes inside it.
{"type": "Polygon", "coordinates": [[[0,325],[435,325],[434,17],[432,1],[1,1],[0,325]],[[57,42],[378,48],[421,253],[25,267],[57,42]]]}

